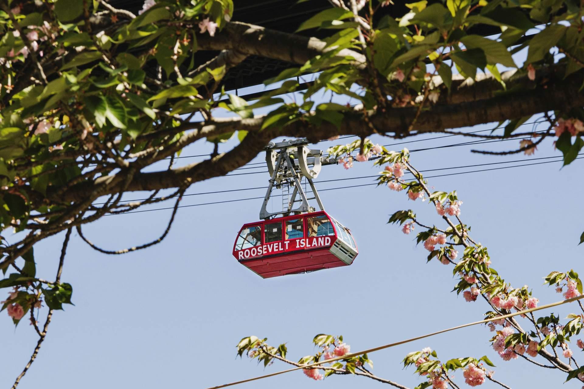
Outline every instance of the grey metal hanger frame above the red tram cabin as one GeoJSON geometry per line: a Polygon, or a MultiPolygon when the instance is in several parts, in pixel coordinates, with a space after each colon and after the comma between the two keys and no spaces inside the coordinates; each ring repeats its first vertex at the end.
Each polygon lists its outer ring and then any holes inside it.
{"type": "Polygon", "coordinates": [[[265,148],[270,181],[266,196],[263,199],[262,208],[259,212],[260,219],[267,220],[276,215],[288,216],[291,214],[314,212],[315,208],[310,206],[308,202],[310,199],[317,201],[321,211],[325,210],[312,180],[318,177],[323,165],[337,163],[337,160],[335,158],[326,159],[322,156],[321,150],[311,150],[307,145],[308,139],[303,138],[294,141],[270,143],[265,148]],[[314,194],[313,198],[307,198],[301,185],[303,178],[310,184],[310,188],[314,194]],[[272,195],[274,185],[276,187],[291,185],[294,187],[294,190],[288,201],[287,209],[282,209],[278,212],[267,212],[267,203],[272,195]],[[300,195],[300,199],[297,201],[296,197],[298,195],[300,195]],[[296,202],[300,202],[300,206],[293,208],[296,202]]]}

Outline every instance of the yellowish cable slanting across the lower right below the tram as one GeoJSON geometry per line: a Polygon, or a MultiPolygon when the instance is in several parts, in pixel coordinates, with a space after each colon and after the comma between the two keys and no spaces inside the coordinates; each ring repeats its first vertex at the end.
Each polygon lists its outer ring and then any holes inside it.
{"type": "Polygon", "coordinates": [[[399,341],[399,342],[395,342],[395,343],[390,343],[390,344],[387,344],[387,345],[384,345],[384,346],[378,346],[378,347],[374,347],[374,348],[367,349],[367,350],[364,350],[364,351],[354,352],[354,353],[346,354],[346,355],[343,355],[343,356],[337,356],[335,358],[331,358],[331,359],[321,360],[319,362],[310,363],[310,365],[303,365],[303,366],[293,367],[292,369],[281,370],[280,372],[266,374],[265,376],[253,377],[253,378],[250,378],[250,379],[246,379],[246,380],[242,380],[242,381],[236,381],[236,382],[232,382],[232,383],[229,383],[229,384],[223,384],[223,385],[220,385],[220,386],[214,386],[214,387],[207,388],[207,389],[220,389],[220,388],[225,388],[225,387],[228,387],[228,386],[234,386],[234,385],[243,384],[243,383],[250,382],[250,381],[265,379],[267,377],[277,376],[279,374],[293,372],[294,370],[306,369],[307,367],[322,365],[323,363],[334,362],[335,360],[353,358],[354,356],[359,356],[359,355],[371,353],[371,352],[374,352],[374,351],[379,351],[379,350],[387,349],[387,348],[390,348],[390,347],[393,347],[393,346],[398,346],[398,345],[402,345],[402,344],[405,344],[405,343],[417,341],[418,339],[423,339],[423,338],[432,337],[434,335],[443,334],[444,332],[458,330],[459,328],[470,327],[471,325],[476,325],[476,324],[484,324],[484,323],[488,323],[489,321],[493,321],[493,320],[502,320],[502,319],[506,319],[508,317],[522,315],[522,314],[526,314],[526,313],[538,311],[538,310],[541,310],[541,309],[547,309],[547,308],[551,308],[551,307],[556,307],[558,305],[572,303],[572,302],[575,302],[576,300],[580,300],[580,299],[583,299],[583,298],[584,298],[584,295],[581,295],[581,296],[578,296],[578,297],[573,297],[572,299],[562,300],[562,301],[559,301],[559,302],[556,302],[556,303],[551,303],[551,304],[545,304],[545,305],[543,305],[541,307],[526,309],[524,311],[517,311],[515,313],[510,313],[510,314],[506,314],[506,315],[503,315],[503,316],[498,316],[496,318],[490,318],[490,319],[485,319],[485,320],[481,320],[481,321],[475,321],[474,323],[467,323],[467,324],[457,325],[457,327],[448,328],[447,330],[440,330],[440,331],[436,331],[436,332],[431,332],[430,334],[421,335],[419,337],[406,339],[405,341],[399,341]]]}

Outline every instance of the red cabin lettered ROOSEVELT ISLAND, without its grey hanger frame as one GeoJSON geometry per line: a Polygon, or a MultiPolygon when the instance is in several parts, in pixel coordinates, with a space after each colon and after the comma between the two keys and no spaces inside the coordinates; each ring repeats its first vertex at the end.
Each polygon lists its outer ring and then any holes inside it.
{"type": "Polygon", "coordinates": [[[349,229],[324,211],[247,223],[233,247],[239,263],[262,278],[347,266],[357,254],[349,229]]]}

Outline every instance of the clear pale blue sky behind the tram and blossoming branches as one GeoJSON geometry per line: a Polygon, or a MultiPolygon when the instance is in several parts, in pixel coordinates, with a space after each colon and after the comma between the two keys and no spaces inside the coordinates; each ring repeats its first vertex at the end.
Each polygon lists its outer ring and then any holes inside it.
{"type": "MultiPolygon", "coordinates": [[[[464,130],[493,127],[495,124],[464,130]]],[[[472,140],[461,136],[423,140],[433,136],[404,141],[380,136],[372,139],[382,145],[415,141],[388,146],[411,150],[472,140]]],[[[325,150],[333,144],[321,142],[314,148],[325,150]]],[[[232,145],[228,142],[222,149],[232,145]]],[[[482,146],[509,150],[518,145],[519,141],[513,140],[482,146]]],[[[478,155],[471,149],[467,145],[413,152],[411,161],[424,170],[530,159],[522,154],[478,155]]],[[[210,143],[197,143],[182,156],[211,150],[210,143]]],[[[550,140],[538,146],[532,158],[558,156],[559,160],[560,155],[550,140]]],[[[195,160],[200,158],[184,158],[180,163],[195,160]]],[[[263,155],[259,155],[252,162],[262,161],[263,155]]],[[[441,170],[426,176],[523,163],[529,162],[441,170]]],[[[492,267],[513,286],[529,285],[544,304],[561,296],[542,286],[543,276],[554,270],[584,271],[580,266],[584,247],[576,246],[584,230],[581,163],[576,160],[563,169],[561,163],[554,162],[435,177],[429,179],[429,185],[436,190],[458,191],[464,202],[461,218],[472,226],[472,237],[489,248],[492,267]]],[[[317,183],[370,176],[379,170],[371,162],[355,165],[349,171],[326,166],[317,183]]],[[[261,164],[253,166],[259,168],[243,171],[266,170],[261,164]]],[[[263,187],[268,178],[267,173],[213,178],[193,185],[187,194],[263,187]]],[[[317,187],[323,190],[371,182],[371,178],[361,178],[317,187]]],[[[252,190],[192,195],[181,205],[263,194],[263,190],[252,190]]],[[[320,194],[326,211],[349,227],[357,241],[359,256],[350,267],[262,279],[239,265],[231,255],[232,245],[241,225],[258,220],[261,200],[182,208],[161,244],[126,255],[93,251],[74,232],[62,281],[73,285],[75,306],[54,314],[46,341],[21,387],[206,388],[287,368],[276,362],[263,369],[246,358],[235,358],[235,345],[245,336],[267,337],[272,345],[287,342],[289,358],[298,360],[316,352],[311,340],[319,333],[342,334],[352,351],[358,351],[482,318],[487,310],[484,302],[467,303],[450,292],[456,284],[451,267],[435,260],[426,264],[427,251],[416,246],[415,236],[405,236],[398,226],[387,225],[389,215],[401,209],[413,209],[428,224],[440,223],[427,202],[411,202],[404,192],[396,194],[374,185],[320,194]]],[[[134,193],[127,198],[142,196],[134,193]]],[[[277,204],[276,198],[274,206],[277,204]]],[[[170,213],[106,216],[85,226],[84,232],[107,249],[136,246],[157,238],[170,213]]],[[[54,276],[62,237],[60,234],[37,244],[37,272],[45,278],[54,276]]],[[[562,306],[554,312],[565,317],[577,312],[576,308],[562,306]]],[[[0,314],[0,334],[0,387],[9,387],[29,359],[37,337],[25,321],[15,330],[5,313],[0,314]]],[[[564,373],[542,370],[522,359],[504,362],[492,350],[491,336],[488,328],[477,326],[371,353],[373,372],[413,388],[422,380],[413,369],[402,370],[400,362],[406,353],[430,346],[444,361],[487,355],[497,365],[494,377],[513,388],[557,386],[564,381],[564,373]]],[[[572,349],[579,359],[575,345],[572,349]]],[[[455,376],[464,387],[462,374],[455,376]]],[[[374,388],[383,384],[353,376],[333,376],[317,383],[293,372],[241,387],[340,389],[356,385],[374,388]]],[[[483,387],[495,386],[487,381],[483,387]]],[[[571,381],[565,387],[580,385],[571,381]]]]}

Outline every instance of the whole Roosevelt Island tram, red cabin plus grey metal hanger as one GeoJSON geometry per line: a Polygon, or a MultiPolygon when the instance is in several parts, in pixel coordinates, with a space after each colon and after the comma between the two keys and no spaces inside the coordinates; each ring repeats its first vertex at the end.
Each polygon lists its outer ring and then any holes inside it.
{"type": "Polygon", "coordinates": [[[321,150],[307,145],[307,139],[297,139],[265,148],[270,183],[259,213],[263,220],[241,227],[233,247],[239,263],[262,278],[347,266],[359,253],[350,230],[325,212],[312,182],[323,165],[336,164],[336,159],[326,159],[321,150]],[[283,192],[282,210],[268,212],[274,187],[283,192]],[[310,200],[317,202],[319,211],[310,200]]]}

